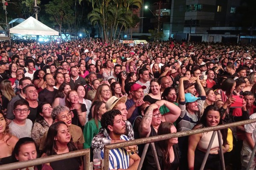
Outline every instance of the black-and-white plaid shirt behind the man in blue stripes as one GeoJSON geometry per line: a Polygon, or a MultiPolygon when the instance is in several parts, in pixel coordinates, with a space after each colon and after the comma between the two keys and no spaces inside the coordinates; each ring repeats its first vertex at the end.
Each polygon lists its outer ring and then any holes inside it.
{"type": "MultiPolygon", "coordinates": [[[[132,128],[131,123],[128,120],[125,120],[125,125],[126,125],[126,136],[130,140],[134,140],[134,131],[132,128]]],[[[101,150],[104,147],[104,144],[110,144],[111,139],[107,138],[108,132],[105,128],[100,128],[99,133],[93,137],[92,141],[92,148],[100,148],[101,150]]]]}

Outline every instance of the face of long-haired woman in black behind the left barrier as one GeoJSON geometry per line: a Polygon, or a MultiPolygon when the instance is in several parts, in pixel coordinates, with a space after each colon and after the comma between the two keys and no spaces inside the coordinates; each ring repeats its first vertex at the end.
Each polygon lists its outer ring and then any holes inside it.
{"type": "Polygon", "coordinates": [[[67,144],[68,142],[70,142],[71,136],[67,125],[59,125],[57,136],[55,136],[54,139],[56,143],[59,144],[67,144]]]}

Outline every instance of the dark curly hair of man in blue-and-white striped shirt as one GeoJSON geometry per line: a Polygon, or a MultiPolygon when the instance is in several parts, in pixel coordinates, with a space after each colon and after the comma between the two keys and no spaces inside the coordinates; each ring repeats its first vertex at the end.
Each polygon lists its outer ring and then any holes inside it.
{"type": "Polygon", "coordinates": [[[101,125],[102,125],[102,128],[105,128],[108,131],[108,133],[110,133],[110,130],[108,129],[108,125],[113,126],[113,122],[116,115],[122,115],[122,113],[117,109],[113,109],[113,110],[107,111],[102,115],[101,125]]]}

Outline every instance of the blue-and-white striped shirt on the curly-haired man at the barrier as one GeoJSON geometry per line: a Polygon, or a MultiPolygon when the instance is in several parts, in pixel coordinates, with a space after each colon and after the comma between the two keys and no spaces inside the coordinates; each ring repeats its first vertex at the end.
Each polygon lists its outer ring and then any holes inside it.
{"type": "MultiPolygon", "coordinates": [[[[111,139],[108,136],[108,139],[111,139]]],[[[128,141],[128,137],[121,135],[120,139],[128,141]]],[[[109,169],[128,169],[129,159],[133,153],[128,153],[124,148],[111,149],[109,151],[109,169]]],[[[104,150],[101,151],[102,159],[104,158],[104,150]]]]}

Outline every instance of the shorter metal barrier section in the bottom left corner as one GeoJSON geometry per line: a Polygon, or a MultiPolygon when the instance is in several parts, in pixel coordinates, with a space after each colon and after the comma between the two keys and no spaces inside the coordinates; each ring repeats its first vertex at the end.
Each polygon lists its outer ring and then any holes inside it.
{"type": "Polygon", "coordinates": [[[83,160],[84,170],[89,170],[90,169],[90,149],[76,150],[69,153],[46,156],[43,158],[33,159],[29,161],[20,161],[12,164],[4,164],[4,165],[0,165],[0,170],[14,170],[19,168],[21,169],[25,167],[32,167],[35,165],[45,164],[53,161],[60,161],[60,160],[69,159],[69,158],[75,158],[79,156],[84,156],[84,160],[83,160]]]}

